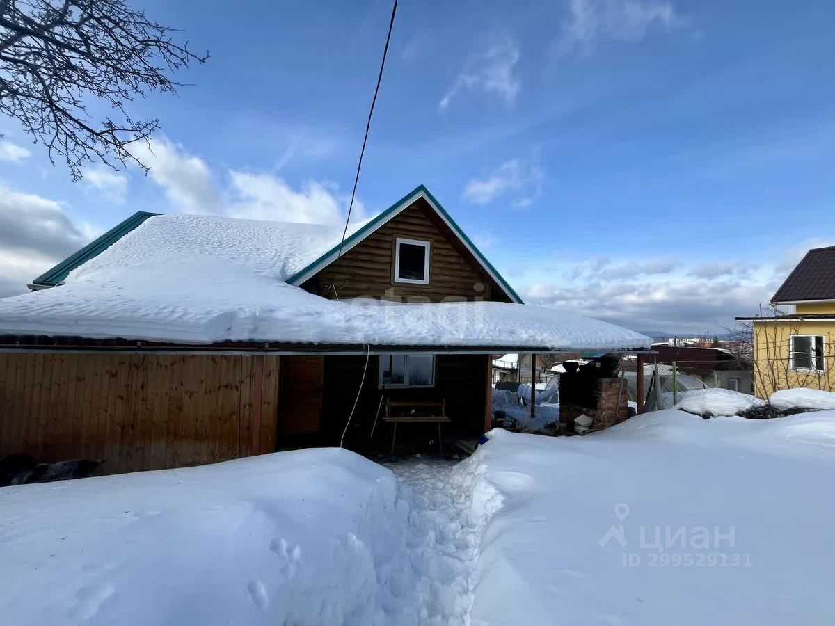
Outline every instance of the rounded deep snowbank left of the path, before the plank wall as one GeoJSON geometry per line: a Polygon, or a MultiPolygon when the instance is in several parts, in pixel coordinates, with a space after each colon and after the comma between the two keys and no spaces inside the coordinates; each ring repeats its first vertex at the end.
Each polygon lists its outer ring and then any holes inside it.
{"type": "Polygon", "coordinates": [[[407,507],[352,452],[4,487],[0,521],[3,623],[417,619],[407,507]]]}

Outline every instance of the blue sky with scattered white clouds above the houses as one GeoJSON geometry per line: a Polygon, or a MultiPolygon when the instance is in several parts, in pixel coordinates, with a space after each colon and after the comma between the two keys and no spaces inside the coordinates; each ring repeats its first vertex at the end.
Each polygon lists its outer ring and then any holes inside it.
{"type": "MultiPolygon", "coordinates": [[[[0,295],[135,210],[339,220],[390,3],[136,2],[210,60],[73,184],[0,119],[0,295]],[[19,232],[18,232],[19,230],[19,232]]],[[[835,243],[835,5],[400,4],[359,213],[426,184],[529,302],[721,331],[835,243]]]]}

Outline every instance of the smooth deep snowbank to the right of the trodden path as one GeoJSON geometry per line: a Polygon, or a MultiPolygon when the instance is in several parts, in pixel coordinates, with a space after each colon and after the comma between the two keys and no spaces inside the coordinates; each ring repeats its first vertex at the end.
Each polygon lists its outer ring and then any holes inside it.
{"type": "Polygon", "coordinates": [[[491,435],[473,624],[832,621],[835,412],[491,435]]]}

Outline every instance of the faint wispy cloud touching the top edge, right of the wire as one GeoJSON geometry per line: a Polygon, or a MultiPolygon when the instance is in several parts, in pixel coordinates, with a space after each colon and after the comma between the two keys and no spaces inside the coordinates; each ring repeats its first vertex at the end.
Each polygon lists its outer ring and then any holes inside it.
{"type": "Polygon", "coordinates": [[[666,0],[569,0],[554,51],[590,53],[600,41],[639,41],[654,26],[669,30],[683,21],[666,0]]]}

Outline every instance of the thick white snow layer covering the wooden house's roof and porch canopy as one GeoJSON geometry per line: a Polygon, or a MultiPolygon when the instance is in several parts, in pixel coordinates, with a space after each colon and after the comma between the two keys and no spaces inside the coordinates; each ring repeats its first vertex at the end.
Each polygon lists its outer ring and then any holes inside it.
{"type": "Polygon", "coordinates": [[[620,326],[539,306],[328,300],[287,284],[341,236],[339,225],[154,216],[63,285],[0,300],[0,335],[549,350],[650,345],[620,326]]]}

